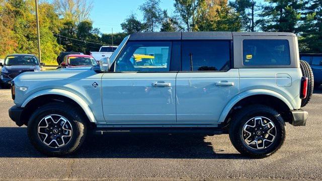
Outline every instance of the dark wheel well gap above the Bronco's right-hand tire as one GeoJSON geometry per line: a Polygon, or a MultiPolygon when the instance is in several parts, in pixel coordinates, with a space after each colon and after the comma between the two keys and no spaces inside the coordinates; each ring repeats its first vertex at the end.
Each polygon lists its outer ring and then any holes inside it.
{"type": "Polygon", "coordinates": [[[223,123],[223,128],[229,127],[231,118],[239,109],[254,104],[269,106],[279,112],[285,122],[291,121],[290,109],[282,100],[270,95],[254,95],[240,100],[230,109],[223,123]]]}

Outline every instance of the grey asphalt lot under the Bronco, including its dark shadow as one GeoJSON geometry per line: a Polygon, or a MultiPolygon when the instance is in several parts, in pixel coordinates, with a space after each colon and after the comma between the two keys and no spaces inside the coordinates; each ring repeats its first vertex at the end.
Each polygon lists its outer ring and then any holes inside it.
{"type": "Polygon", "coordinates": [[[274,155],[239,155],[228,135],[113,133],[87,140],[73,155],[38,153],[26,127],[8,116],[9,89],[0,89],[0,179],[321,179],[322,88],[304,108],[305,127],[286,125],[286,140],[274,155]]]}

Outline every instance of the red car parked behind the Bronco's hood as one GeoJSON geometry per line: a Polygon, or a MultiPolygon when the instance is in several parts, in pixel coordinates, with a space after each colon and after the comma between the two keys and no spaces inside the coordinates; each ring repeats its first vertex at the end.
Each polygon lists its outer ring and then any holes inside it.
{"type": "Polygon", "coordinates": [[[96,66],[98,62],[91,55],[66,55],[60,64],[61,67],[72,68],[79,66],[96,66]]]}

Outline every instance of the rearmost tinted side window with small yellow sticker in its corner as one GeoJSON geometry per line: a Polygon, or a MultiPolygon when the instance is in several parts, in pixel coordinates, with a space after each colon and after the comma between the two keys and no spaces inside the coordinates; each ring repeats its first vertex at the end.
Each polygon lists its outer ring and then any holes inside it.
{"type": "Polygon", "coordinates": [[[289,65],[290,48],[287,40],[244,40],[244,65],[289,65]]]}

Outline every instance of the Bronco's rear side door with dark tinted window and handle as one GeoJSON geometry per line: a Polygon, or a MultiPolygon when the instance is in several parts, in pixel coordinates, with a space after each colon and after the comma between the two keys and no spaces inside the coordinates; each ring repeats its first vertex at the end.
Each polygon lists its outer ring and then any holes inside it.
{"type": "Polygon", "coordinates": [[[238,69],[231,68],[231,40],[183,40],[177,75],[177,122],[215,123],[239,93],[238,69]]]}

